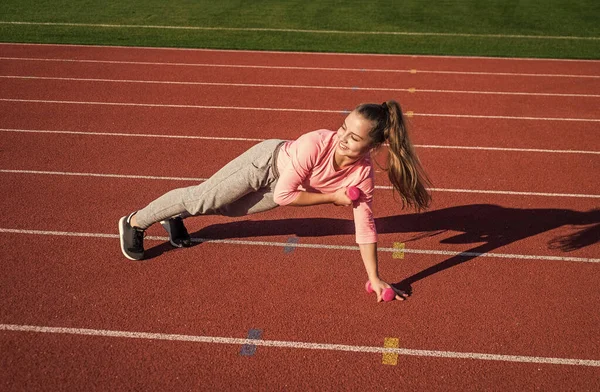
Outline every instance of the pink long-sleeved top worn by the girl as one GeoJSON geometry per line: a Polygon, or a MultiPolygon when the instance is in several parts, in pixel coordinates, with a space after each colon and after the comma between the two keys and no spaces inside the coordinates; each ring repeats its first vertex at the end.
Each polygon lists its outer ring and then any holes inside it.
{"type": "Polygon", "coordinates": [[[368,156],[349,167],[336,171],[333,165],[337,132],[320,129],[288,141],[277,157],[279,180],[274,200],[279,205],[292,203],[300,191],[333,193],[340,188],[356,186],[360,198],[354,202],[356,243],[377,242],[377,230],[371,208],[374,191],[374,171],[368,156]]]}

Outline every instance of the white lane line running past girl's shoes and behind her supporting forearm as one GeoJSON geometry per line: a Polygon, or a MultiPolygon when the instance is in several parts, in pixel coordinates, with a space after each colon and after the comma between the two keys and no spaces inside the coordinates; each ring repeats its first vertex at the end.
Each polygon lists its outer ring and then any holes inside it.
{"type": "MultiPolygon", "coordinates": [[[[26,230],[26,229],[7,229],[0,228],[0,233],[6,234],[27,234],[27,235],[44,235],[44,236],[57,236],[57,237],[86,237],[86,238],[111,238],[118,239],[118,234],[106,234],[106,233],[81,233],[81,232],[69,232],[69,231],[52,231],[52,230],[26,230]]],[[[168,241],[169,237],[161,236],[146,236],[145,240],[148,241],[168,241]]],[[[210,239],[210,238],[192,238],[192,242],[198,243],[213,243],[213,244],[226,244],[226,245],[239,245],[239,246],[269,246],[269,247],[287,247],[290,244],[288,242],[276,242],[276,241],[249,241],[249,240],[232,240],[232,239],[210,239]]],[[[307,248],[307,249],[329,249],[329,250],[348,250],[358,251],[358,246],[354,245],[326,245],[326,244],[310,244],[310,243],[297,243],[294,244],[296,248],[307,248]]],[[[395,253],[398,252],[396,248],[377,248],[380,252],[395,253]]],[[[545,260],[545,261],[572,261],[577,263],[600,263],[600,259],[597,258],[586,258],[586,257],[563,257],[563,256],[546,256],[546,255],[523,255],[523,254],[511,254],[511,253],[477,253],[477,252],[454,252],[446,250],[435,250],[435,249],[402,249],[404,253],[415,253],[415,254],[426,254],[426,255],[438,255],[438,256],[449,256],[449,257],[488,257],[488,258],[500,258],[500,259],[514,259],[514,260],[545,260]]]]}

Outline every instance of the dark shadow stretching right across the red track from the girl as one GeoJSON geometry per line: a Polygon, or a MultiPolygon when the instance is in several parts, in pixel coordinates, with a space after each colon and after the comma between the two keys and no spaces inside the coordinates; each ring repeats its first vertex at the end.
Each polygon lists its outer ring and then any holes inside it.
{"type": "MultiPolygon", "coordinates": [[[[201,219],[201,218],[200,218],[201,219]]],[[[411,292],[411,285],[435,273],[491,252],[505,245],[554,230],[562,226],[576,226],[572,234],[557,237],[547,246],[569,252],[600,242],[600,209],[579,212],[567,209],[519,209],[491,204],[472,204],[444,208],[422,213],[403,214],[377,218],[378,233],[417,233],[405,242],[433,237],[445,232],[456,235],[440,243],[473,244],[463,253],[420,271],[394,284],[398,289],[411,292]],[[577,227],[579,226],[579,227],[577,227]],[[581,227],[583,226],[583,227],[581,227]],[[477,244],[477,245],[475,245],[477,244]]],[[[235,221],[211,225],[192,234],[207,239],[266,237],[295,235],[322,237],[354,234],[350,219],[294,218],[280,220],[235,221]]],[[[164,249],[157,247],[149,252],[155,257],[164,249]],[[160,248],[157,249],[157,248],[160,248]]]]}

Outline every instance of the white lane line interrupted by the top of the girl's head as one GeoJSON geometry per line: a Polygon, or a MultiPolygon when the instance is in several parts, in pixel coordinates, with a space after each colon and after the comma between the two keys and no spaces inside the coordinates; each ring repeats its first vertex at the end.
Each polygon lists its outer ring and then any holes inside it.
{"type": "MultiPolygon", "coordinates": [[[[303,113],[337,113],[348,114],[350,110],[332,109],[299,109],[299,108],[266,108],[245,106],[213,106],[213,105],[183,105],[183,104],[159,104],[159,103],[135,103],[135,102],[94,102],[94,101],[63,101],[50,99],[17,99],[0,98],[1,102],[22,103],[48,103],[60,105],[100,105],[100,106],[133,106],[133,107],[158,107],[158,108],[180,108],[180,109],[216,109],[216,110],[251,110],[265,112],[303,112],[303,113]]],[[[493,116],[479,114],[446,114],[446,113],[406,113],[408,117],[449,117],[449,118],[480,118],[496,120],[525,120],[525,121],[574,121],[574,122],[600,122],[597,118],[569,118],[569,117],[529,117],[529,116],[493,116]]]]}

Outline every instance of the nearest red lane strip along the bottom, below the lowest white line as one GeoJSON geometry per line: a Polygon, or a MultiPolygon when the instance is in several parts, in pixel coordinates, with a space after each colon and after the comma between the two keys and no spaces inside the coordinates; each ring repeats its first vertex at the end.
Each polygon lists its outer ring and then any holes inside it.
{"type": "Polygon", "coordinates": [[[477,391],[497,387],[553,389],[561,383],[577,390],[593,390],[597,374],[594,368],[411,357],[400,357],[400,364],[390,367],[381,365],[379,356],[372,354],[311,350],[259,348],[254,357],[245,358],[238,355],[237,346],[131,339],[9,333],[0,334],[0,339],[10,348],[0,361],[11,364],[0,374],[0,381],[11,390],[69,385],[99,390],[306,390],[318,386],[331,390],[400,387],[477,391]],[[322,371],[324,367],[327,372],[322,371]],[[124,374],[124,369],[130,371],[124,374]]]}

